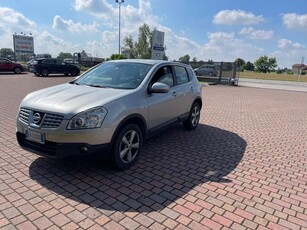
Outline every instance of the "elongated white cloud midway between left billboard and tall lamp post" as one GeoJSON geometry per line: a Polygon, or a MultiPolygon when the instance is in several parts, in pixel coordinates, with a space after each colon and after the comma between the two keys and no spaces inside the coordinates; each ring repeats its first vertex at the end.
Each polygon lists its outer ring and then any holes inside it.
{"type": "Polygon", "coordinates": [[[52,24],[53,29],[70,31],[73,33],[98,32],[98,26],[99,24],[96,22],[93,22],[91,25],[82,25],[80,22],[74,23],[72,20],[64,20],[58,15],[54,17],[52,24]]]}

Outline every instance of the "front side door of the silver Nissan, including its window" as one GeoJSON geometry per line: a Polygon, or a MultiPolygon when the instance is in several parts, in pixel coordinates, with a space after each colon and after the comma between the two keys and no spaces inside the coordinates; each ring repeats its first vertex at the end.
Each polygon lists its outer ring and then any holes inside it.
{"type": "Polygon", "coordinates": [[[174,78],[171,66],[162,66],[153,74],[149,87],[155,82],[170,86],[168,93],[148,94],[148,126],[149,129],[171,123],[177,117],[176,96],[174,95],[174,78]]]}

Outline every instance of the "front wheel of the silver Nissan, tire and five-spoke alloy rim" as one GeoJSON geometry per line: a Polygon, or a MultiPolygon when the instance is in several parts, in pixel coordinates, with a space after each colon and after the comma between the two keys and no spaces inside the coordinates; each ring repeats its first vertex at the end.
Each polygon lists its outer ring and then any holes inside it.
{"type": "Polygon", "coordinates": [[[130,168],[139,158],[143,136],[136,124],[124,126],[115,139],[112,160],[119,170],[130,168]]]}

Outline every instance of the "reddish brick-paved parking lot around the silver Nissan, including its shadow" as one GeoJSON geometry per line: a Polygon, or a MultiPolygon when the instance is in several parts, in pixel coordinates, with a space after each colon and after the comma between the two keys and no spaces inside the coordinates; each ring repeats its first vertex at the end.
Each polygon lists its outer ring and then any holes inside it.
{"type": "Polygon", "coordinates": [[[0,74],[1,229],[307,229],[307,93],[205,86],[199,127],[138,163],[56,161],[15,138],[21,99],[72,80],[0,74]]]}

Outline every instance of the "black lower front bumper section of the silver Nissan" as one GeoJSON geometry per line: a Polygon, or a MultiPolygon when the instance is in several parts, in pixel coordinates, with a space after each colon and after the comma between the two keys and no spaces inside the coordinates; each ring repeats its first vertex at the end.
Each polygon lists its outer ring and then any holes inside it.
{"type": "Polygon", "coordinates": [[[87,143],[56,143],[45,141],[44,144],[26,139],[26,135],[16,132],[19,145],[32,153],[48,158],[63,159],[72,156],[97,156],[105,158],[110,153],[111,144],[91,145],[87,143]]]}

